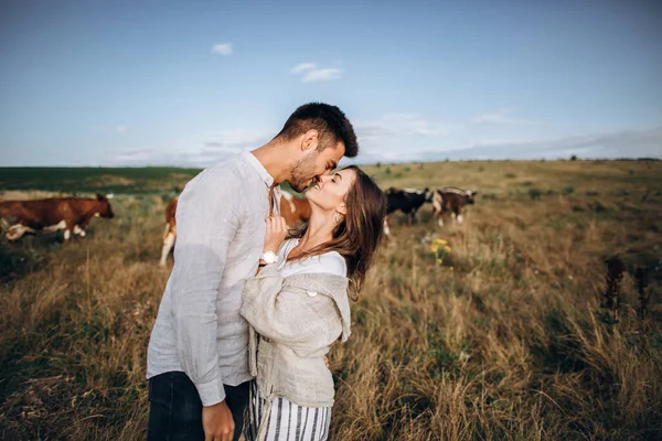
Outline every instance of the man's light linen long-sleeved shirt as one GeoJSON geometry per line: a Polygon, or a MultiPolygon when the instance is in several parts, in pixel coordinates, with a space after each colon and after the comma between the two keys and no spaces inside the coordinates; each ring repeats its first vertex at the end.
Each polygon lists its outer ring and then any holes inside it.
{"type": "MultiPolygon", "coordinates": [[[[248,325],[242,290],[264,247],[274,179],[249,152],[191,180],[177,207],[174,267],[147,353],[147,377],[184,372],[203,406],[225,399],[248,370],[248,325]]],[[[280,189],[274,189],[279,213],[280,189]]]]}

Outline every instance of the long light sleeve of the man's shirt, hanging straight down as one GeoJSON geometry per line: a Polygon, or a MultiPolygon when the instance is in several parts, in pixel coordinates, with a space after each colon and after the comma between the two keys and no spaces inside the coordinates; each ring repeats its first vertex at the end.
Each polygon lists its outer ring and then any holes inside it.
{"type": "Polygon", "coordinates": [[[239,226],[236,185],[201,176],[186,185],[177,211],[171,275],[177,352],[203,406],[225,399],[216,349],[216,295],[227,249],[239,226]]]}

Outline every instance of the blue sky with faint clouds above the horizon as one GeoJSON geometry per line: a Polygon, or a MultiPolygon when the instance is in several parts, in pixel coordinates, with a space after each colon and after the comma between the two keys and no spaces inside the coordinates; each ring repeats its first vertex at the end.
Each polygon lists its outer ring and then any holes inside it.
{"type": "Polygon", "coordinates": [[[662,2],[0,0],[0,165],[207,165],[300,104],[359,162],[662,158],[662,2]]]}

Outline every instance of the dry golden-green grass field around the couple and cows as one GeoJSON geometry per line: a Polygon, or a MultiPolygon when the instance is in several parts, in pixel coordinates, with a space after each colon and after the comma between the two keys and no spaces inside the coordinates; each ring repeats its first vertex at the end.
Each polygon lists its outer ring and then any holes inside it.
{"type": "MultiPolygon", "coordinates": [[[[438,228],[430,206],[410,226],[394,217],[352,337],[330,354],[334,440],[662,439],[662,162],[365,169],[383,187],[479,194],[463,225],[438,228]],[[441,261],[435,239],[450,248],[441,261]],[[615,255],[617,323],[600,308],[615,255]]],[[[72,170],[0,170],[0,198],[116,195],[116,218],[84,240],[0,243],[0,433],[143,439],[163,209],[195,171],[72,170]]]]}

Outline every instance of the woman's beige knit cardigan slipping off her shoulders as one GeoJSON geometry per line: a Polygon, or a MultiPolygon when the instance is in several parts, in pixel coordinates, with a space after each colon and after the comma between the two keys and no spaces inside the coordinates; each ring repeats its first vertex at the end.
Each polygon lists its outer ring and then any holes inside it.
{"type": "Polygon", "coordinates": [[[268,406],[274,397],[305,407],[333,406],[324,355],[333,342],[350,336],[348,284],[348,278],[330,273],[284,278],[277,263],[246,282],[241,314],[250,325],[250,373],[268,406]]]}

